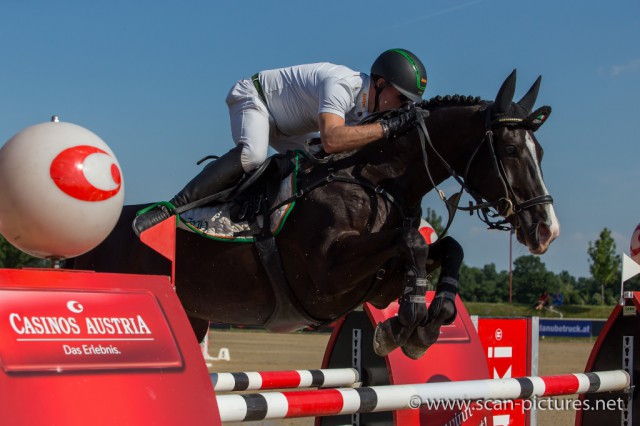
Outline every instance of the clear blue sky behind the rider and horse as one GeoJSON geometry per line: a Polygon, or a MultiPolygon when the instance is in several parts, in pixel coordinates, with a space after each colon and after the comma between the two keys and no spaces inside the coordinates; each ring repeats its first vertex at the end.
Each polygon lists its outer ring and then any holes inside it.
{"type": "MultiPolygon", "coordinates": [[[[112,148],[127,203],[152,202],[232,146],[225,96],[261,69],[367,72],[404,47],[427,67],[425,98],[493,99],[517,68],[516,97],[542,74],[537,106],[553,107],[537,137],[561,235],[542,261],[588,276],[589,242],[607,227],[628,253],[640,222],[639,32],[637,0],[4,0],[0,143],[57,114],[112,148]]],[[[434,195],[424,205],[444,214],[434,195]]],[[[508,269],[507,233],[460,215],[451,234],[467,264],[508,269]]],[[[514,244],[514,258],[527,253],[514,244]]]]}

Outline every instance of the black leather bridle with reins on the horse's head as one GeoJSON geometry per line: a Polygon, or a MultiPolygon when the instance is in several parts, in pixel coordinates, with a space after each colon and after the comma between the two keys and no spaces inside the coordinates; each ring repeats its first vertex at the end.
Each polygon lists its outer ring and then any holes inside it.
{"type": "Polygon", "coordinates": [[[537,128],[542,125],[546,117],[551,112],[549,107],[542,107],[532,113],[526,119],[518,118],[518,117],[499,117],[497,119],[491,119],[490,109],[487,108],[485,111],[485,133],[484,137],[480,140],[475,150],[469,157],[467,161],[467,165],[464,170],[464,174],[460,176],[456,171],[447,163],[447,161],[442,157],[442,155],[435,148],[433,143],[431,142],[431,138],[429,137],[429,131],[427,130],[427,126],[424,122],[424,118],[429,115],[427,110],[424,110],[420,107],[415,107],[418,109],[417,115],[418,119],[418,133],[420,136],[420,145],[422,149],[422,158],[424,162],[425,169],[427,171],[427,176],[429,177],[429,181],[433,185],[433,188],[438,193],[440,199],[445,203],[447,210],[449,212],[449,219],[447,225],[442,232],[442,235],[445,235],[449,226],[453,221],[453,217],[457,210],[468,211],[470,215],[473,215],[475,212],[478,215],[478,218],[483,221],[489,229],[497,229],[501,231],[509,231],[513,227],[509,223],[508,218],[513,215],[520,215],[526,209],[529,209],[538,205],[545,204],[553,204],[553,198],[551,195],[539,195],[537,197],[530,198],[528,200],[520,201],[507,178],[507,174],[505,172],[502,161],[498,158],[495,151],[495,142],[493,140],[493,133],[495,129],[501,127],[526,127],[532,131],[537,130],[537,128]],[[544,119],[540,119],[539,117],[544,115],[544,119]],[[431,176],[431,171],[429,169],[429,159],[427,155],[427,145],[433,152],[436,154],[438,161],[442,164],[442,166],[447,170],[449,175],[453,177],[460,184],[460,191],[453,194],[451,197],[447,198],[444,194],[444,191],[438,188],[433,177],[431,176]],[[469,170],[471,168],[471,164],[473,163],[476,155],[480,151],[480,148],[486,145],[489,150],[490,161],[492,164],[492,169],[502,184],[504,196],[498,198],[495,201],[490,201],[485,199],[482,195],[480,195],[477,191],[473,190],[469,185],[467,185],[467,178],[469,174],[469,170]],[[467,192],[475,201],[469,201],[468,207],[459,206],[460,198],[463,192],[467,192]],[[498,217],[502,217],[503,219],[499,220],[498,217]]]}

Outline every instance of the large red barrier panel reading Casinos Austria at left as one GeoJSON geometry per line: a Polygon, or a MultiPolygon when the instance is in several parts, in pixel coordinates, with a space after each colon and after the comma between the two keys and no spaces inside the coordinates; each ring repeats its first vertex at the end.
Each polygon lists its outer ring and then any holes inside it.
{"type": "Polygon", "coordinates": [[[220,424],[165,277],[0,269],[0,330],[2,424],[220,424]]]}

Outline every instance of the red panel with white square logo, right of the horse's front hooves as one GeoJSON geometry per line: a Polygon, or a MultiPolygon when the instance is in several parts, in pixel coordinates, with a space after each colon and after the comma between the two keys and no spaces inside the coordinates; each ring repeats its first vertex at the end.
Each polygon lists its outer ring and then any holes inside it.
{"type": "MultiPolygon", "coordinates": [[[[532,375],[531,323],[531,318],[478,318],[478,336],[491,379],[532,375]]],[[[494,426],[528,425],[530,417],[522,400],[496,401],[493,405],[494,426]]]]}

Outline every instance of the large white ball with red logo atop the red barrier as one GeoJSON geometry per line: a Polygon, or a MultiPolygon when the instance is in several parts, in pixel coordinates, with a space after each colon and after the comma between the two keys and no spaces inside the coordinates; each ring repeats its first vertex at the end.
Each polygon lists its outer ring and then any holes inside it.
{"type": "Polygon", "coordinates": [[[83,127],[37,124],[0,149],[0,234],[32,256],[91,250],[109,235],[123,204],[118,160],[83,127]]]}

